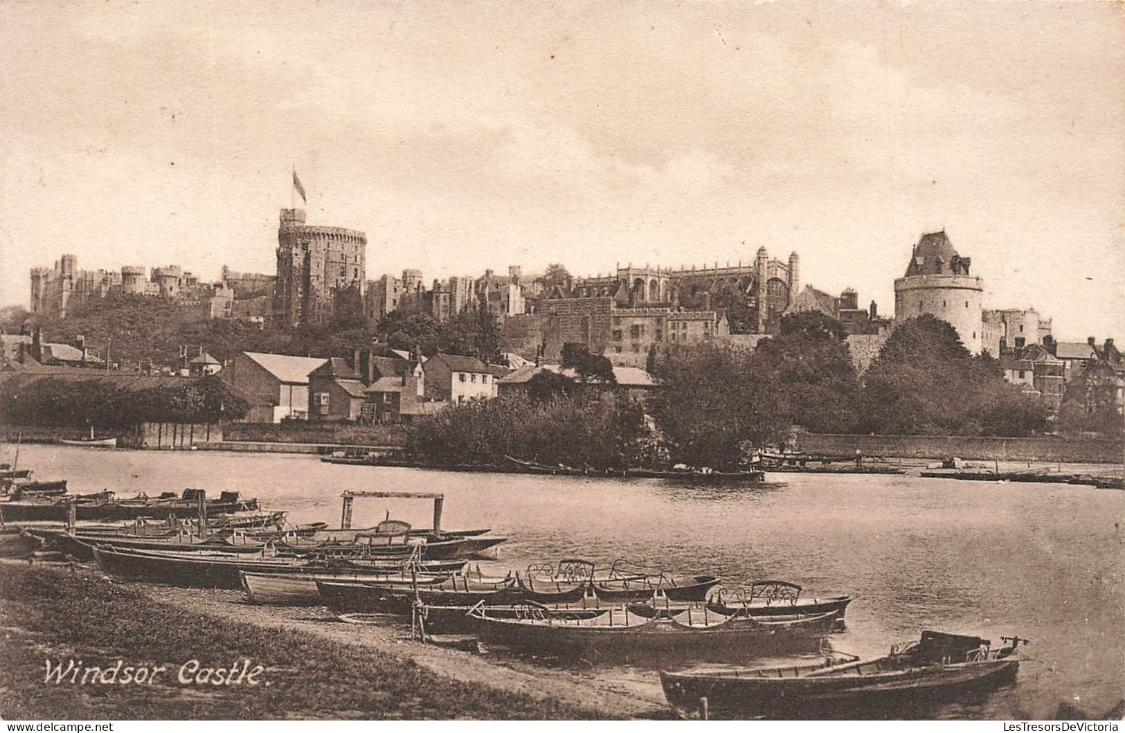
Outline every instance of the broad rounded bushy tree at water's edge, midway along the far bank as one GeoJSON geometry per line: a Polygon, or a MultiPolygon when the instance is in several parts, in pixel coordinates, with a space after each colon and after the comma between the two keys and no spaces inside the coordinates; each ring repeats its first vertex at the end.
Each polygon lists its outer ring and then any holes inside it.
{"type": "Polygon", "coordinates": [[[776,374],[744,351],[677,349],[657,374],[662,388],[649,408],[674,462],[734,468],[748,445],[776,443],[789,428],[776,374]]]}

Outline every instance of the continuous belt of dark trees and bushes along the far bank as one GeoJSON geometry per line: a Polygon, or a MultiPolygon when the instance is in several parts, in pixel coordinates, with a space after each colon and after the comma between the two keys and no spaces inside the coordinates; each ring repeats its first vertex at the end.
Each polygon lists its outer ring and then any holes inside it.
{"type": "MultiPolygon", "coordinates": [[[[574,355],[574,354],[572,354],[574,355]]],[[[439,462],[505,455],[576,468],[685,464],[734,469],[781,447],[793,426],[818,433],[1025,436],[1048,428],[1046,408],[974,356],[944,320],[903,323],[860,377],[839,323],[786,316],[754,351],[719,343],[666,349],[644,407],[612,390],[542,373],[526,393],[453,406],[411,431],[439,462]]]]}

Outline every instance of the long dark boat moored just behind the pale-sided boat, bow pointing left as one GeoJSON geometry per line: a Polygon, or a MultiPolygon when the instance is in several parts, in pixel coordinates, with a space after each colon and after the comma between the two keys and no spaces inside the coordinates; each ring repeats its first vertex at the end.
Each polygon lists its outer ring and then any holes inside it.
{"type": "Polygon", "coordinates": [[[272,574],[353,573],[380,576],[408,568],[403,562],[304,560],[225,552],[154,552],[100,544],[93,548],[98,567],[110,576],[186,588],[242,588],[240,572],[272,574]]]}

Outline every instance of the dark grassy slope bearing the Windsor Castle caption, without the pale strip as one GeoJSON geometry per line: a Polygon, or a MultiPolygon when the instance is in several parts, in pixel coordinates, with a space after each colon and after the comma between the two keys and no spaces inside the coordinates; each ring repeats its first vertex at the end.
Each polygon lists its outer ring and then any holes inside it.
{"type": "Polygon", "coordinates": [[[0,716],[8,720],[604,717],[299,631],[220,622],[86,571],[0,562],[0,716]],[[168,669],[153,684],[58,685],[44,681],[47,659],[168,669]],[[243,659],[264,668],[259,685],[179,679],[189,660],[201,670],[243,659]]]}

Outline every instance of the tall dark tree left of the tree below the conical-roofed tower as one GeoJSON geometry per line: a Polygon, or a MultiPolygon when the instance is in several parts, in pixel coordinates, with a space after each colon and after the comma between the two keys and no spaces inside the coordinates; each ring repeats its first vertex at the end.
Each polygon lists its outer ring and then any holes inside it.
{"type": "Polygon", "coordinates": [[[790,422],[814,433],[849,433],[858,419],[860,381],[840,324],[819,311],[781,319],[781,333],[755,359],[781,384],[790,422]]]}

